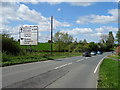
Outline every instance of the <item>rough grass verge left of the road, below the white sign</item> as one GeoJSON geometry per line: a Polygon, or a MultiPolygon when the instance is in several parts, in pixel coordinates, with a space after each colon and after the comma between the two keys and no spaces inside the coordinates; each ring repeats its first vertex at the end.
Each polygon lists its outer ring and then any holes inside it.
{"type": "Polygon", "coordinates": [[[69,53],[69,52],[53,52],[51,55],[50,52],[32,52],[27,53],[26,55],[6,55],[3,53],[2,55],[2,62],[0,61],[0,65],[10,66],[16,64],[24,64],[24,63],[31,63],[31,62],[39,62],[39,61],[46,61],[46,60],[54,60],[72,56],[81,56],[81,53],[69,53]]]}

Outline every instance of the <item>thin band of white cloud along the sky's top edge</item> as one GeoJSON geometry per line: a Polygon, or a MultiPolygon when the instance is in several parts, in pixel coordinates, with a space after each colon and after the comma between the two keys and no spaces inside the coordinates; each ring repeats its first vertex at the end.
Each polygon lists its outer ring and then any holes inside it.
{"type": "Polygon", "coordinates": [[[2,2],[24,2],[24,3],[32,3],[32,4],[38,4],[42,2],[47,2],[50,5],[57,5],[63,2],[67,2],[70,5],[74,6],[90,6],[95,2],[118,2],[119,0],[2,0],[2,2]]]}

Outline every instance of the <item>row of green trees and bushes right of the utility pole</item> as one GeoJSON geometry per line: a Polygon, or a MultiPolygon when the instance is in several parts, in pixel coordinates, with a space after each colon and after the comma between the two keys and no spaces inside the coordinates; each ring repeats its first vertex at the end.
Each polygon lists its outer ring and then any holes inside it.
{"type": "Polygon", "coordinates": [[[73,41],[73,37],[68,33],[57,32],[54,35],[53,43],[55,43],[55,49],[63,52],[84,52],[84,51],[111,51],[117,44],[115,41],[120,40],[120,31],[116,34],[116,39],[113,36],[112,31],[109,32],[108,35],[101,35],[101,39],[98,43],[95,42],[87,42],[86,39],[73,41]]]}

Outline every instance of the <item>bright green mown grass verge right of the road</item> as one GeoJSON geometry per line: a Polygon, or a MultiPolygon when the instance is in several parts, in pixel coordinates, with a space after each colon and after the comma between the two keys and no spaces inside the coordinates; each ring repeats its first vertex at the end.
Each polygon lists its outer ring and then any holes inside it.
{"type": "MultiPolygon", "coordinates": [[[[111,55],[112,58],[119,56],[111,55]]],[[[105,58],[100,65],[98,88],[120,88],[120,61],[112,58],[105,58]]]]}

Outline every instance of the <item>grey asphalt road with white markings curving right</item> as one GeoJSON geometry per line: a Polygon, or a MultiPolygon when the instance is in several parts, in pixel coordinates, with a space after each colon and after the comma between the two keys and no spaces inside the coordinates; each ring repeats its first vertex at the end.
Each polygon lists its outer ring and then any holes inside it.
{"type": "Polygon", "coordinates": [[[97,88],[98,64],[110,52],[2,68],[3,88],[97,88]]]}

